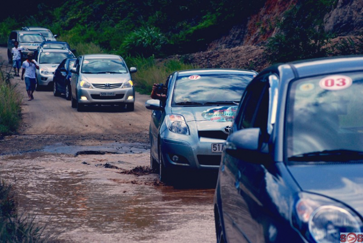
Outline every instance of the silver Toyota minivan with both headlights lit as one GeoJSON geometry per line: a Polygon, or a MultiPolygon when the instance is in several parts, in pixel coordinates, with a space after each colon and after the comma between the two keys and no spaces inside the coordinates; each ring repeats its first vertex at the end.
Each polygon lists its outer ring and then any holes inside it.
{"type": "Polygon", "coordinates": [[[118,105],[134,110],[135,89],[131,74],[118,55],[88,54],[77,58],[71,68],[72,107],[77,111],[85,106],[118,105]]]}

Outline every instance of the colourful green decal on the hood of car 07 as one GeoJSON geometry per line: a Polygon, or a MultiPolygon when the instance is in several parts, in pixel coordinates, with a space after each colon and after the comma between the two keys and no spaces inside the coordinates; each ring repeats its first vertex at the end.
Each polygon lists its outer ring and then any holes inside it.
{"type": "Polygon", "coordinates": [[[214,107],[202,112],[202,117],[210,121],[233,121],[236,116],[238,106],[214,107]]]}

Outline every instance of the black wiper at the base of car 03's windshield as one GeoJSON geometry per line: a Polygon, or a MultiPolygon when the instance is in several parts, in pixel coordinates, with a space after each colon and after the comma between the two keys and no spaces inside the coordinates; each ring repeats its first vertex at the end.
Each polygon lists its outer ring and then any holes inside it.
{"type": "Polygon", "coordinates": [[[288,157],[289,161],[349,161],[362,160],[363,151],[354,150],[324,150],[302,153],[288,157]]]}

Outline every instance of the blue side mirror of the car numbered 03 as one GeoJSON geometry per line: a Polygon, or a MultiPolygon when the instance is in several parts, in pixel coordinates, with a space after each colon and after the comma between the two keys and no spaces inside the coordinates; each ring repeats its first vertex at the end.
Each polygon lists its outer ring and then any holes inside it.
{"type": "Polygon", "coordinates": [[[261,129],[246,128],[230,134],[224,145],[225,151],[240,160],[262,164],[270,161],[267,153],[261,152],[261,129]]]}

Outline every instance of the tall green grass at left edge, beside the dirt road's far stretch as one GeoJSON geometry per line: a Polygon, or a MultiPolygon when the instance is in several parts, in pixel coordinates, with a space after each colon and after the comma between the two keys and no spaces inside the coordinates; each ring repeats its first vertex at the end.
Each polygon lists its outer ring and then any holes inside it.
{"type": "Polygon", "coordinates": [[[14,134],[21,121],[21,96],[10,83],[11,69],[3,69],[0,60],[0,137],[14,134]]]}

